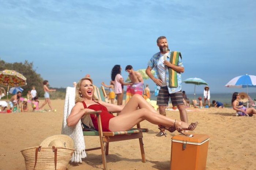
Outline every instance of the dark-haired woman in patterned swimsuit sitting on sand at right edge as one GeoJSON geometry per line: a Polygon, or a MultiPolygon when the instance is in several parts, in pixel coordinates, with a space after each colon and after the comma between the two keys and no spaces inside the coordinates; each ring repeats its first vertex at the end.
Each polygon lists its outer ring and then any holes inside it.
{"type": "Polygon", "coordinates": [[[233,109],[237,111],[237,116],[252,116],[253,114],[256,114],[256,109],[254,107],[246,108],[243,104],[243,102],[240,102],[240,94],[234,92],[232,96],[232,106],[233,109]]]}

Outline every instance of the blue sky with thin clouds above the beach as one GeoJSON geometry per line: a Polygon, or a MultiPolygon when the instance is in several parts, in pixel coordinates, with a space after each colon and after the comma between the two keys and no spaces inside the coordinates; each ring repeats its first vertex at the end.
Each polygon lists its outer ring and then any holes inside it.
{"type": "MultiPolygon", "coordinates": [[[[86,74],[109,83],[115,64],[147,67],[166,36],[180,51],[182,79],[204,79],[211,92],[232,78],[256,75],[255,0],[0,0],[0,58],[33,62],[51,87],[72,86],[86,74]]],[[[155,84],[146,80],[151,90],[155,84]]],[[[203,85],[196,86],[203,93],[203,85]]],[[[193,92],[193,84],[182,90],[193,92]]],[[[255,92],[249,88],[249,92],[255,92]]]]}

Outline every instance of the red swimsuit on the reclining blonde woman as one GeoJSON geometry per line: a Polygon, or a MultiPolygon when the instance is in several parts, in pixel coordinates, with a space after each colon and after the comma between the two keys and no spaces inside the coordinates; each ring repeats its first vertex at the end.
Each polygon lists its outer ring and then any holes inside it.
{"type": "MultiPolygon", "coordinates": [[[[114,118],[115,116],[110,114],[108,112],[108,109],[105,106],[103,106],[100,103],[97,103],[97,104],[92,104],[89,107],[87,107],[84,101],[83,101],[83,106],[84,106],[84,108],[90,108],[95,111],[101,110],[102,112],[99,114],[101,115],[102,131],[103,132],[111,132],[109,130],[109,120],[111,118],[114,118]]],[[[91,120],[93,121],[93,126],[95,127],[95,129],[99,130],[97,116],[94,116],[94,114],[90,114],[90,116],[91,116],[91,120]]]]}

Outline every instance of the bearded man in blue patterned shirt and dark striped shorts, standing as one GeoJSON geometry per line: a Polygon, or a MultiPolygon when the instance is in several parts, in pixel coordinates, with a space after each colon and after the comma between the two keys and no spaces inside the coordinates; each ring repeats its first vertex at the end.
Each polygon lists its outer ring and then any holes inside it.
{"type": "MultiPolygon", "coordinates": [[[[184,72],[184,66],[181,62],[181,54],[169,50],[165,36],[158,37],[157,46],[159,47],[160,52],[154,54],[149,60],[146,74],[155,84],[157,84],[157,86],[161,87],[157,97],[159,113],[166,116],[165,110],[170,98],[173,106],[177,106],[180,112],[181,121],[188,123],[188,115],[184,107],[181,92],[181,73],[184,72]],[[153,68],[155,68],[157,78],[151,73],[153,68]]],[[[165,133],[166,132],[162,130],[161,135],[164,135],[165,133]]]]}

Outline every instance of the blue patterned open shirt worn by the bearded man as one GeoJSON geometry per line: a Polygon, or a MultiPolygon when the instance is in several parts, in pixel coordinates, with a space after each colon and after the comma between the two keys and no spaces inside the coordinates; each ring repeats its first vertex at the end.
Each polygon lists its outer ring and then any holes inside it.
{"type": "MultiPolygon", "coordinates": [[[[168,61],[170,60],[170,55],[171,55],[171,51],[167,55],[168,61]]],[[[155,72],[157,74],[158,79],[160,79],[159,69],[158,69],[158,61],[159,61],[160,57],[161,57],[160,52],[158,52],[158,53],[154,54],[152,56],[152,58],[148,61],[148,66],[151,67],[152,69],[155,68],[155,72]]],[[[177,66],[184,67],[180,57],[179,57],[177,66]]],[[[167,68],[167,66],[165,66],[165,67],[167,68]]],[[[181,80],[180,72],[177,72],[178,87],[170,87],[169,86],[169,71],[168,71],[168,69],[165,70],[165,76],[166,76],[166,83],[167,83],[169,93],[176,93],[181,90],[182,80],[181,80]]]]}

